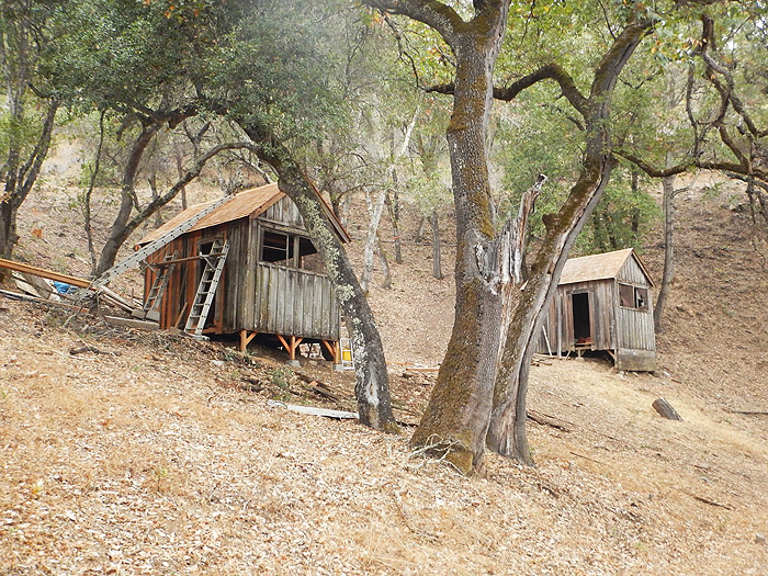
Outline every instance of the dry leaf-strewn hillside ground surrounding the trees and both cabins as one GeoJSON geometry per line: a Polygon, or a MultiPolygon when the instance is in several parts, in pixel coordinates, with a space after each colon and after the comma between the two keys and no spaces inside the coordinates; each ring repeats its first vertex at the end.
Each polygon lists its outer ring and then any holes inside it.
{"type": "MultiPolygon", "coordinates": [[[[722,202],[680,203],[657,375],[542,360],[537,466],[489,454],[482,477],[407,445],[433,376],[399,363],[444,351],[450,246],[444,280],[408,245],[371,295],[400,436],[269,404],[353,409],[325,362],[0,298],[0,574],[768,573],[768,417],[734,411],[768,410],[768,272],[722,202]]],[[[87,273],[66,195],[21,218],[22,257],[87,273]]],[[[643,258],[659,278],[659,247],[643,258]]]]}

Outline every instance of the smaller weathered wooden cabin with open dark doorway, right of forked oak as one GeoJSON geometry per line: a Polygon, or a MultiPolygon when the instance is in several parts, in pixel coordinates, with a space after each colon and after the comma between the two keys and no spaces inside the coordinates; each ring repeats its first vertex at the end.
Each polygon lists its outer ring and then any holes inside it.
{"type": "Polygon", "coordinates": [[[631,248],[569,259],[538,351],[606,350],[618,370],[655,370],[653,285],[631,248]]]}

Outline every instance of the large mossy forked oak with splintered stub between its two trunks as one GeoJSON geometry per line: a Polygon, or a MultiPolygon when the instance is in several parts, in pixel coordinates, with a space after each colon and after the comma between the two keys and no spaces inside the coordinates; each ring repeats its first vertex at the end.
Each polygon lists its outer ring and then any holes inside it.
{"type": "Polygon", "coordinates": [[[589,97],[554,64],[510,84],[493,87],[508,3],[477,0],[464,21],[432,0],[366,0],[385,12],[407,15],[439,32],[451,46],[454,82],[433,91],[453,94],[448,128],[456,211],[455,321],[445,360],[411,444],[444,454],[464,473],[482,466],[486,443],[531,462],[526,439],[526,393],[530,360],[568,250],[610,176],[608,118],[617,78],[650,22],[633,22],[617,36],[595,70],[589,97]],[[528,214],[543,179],[523,196],[518,218],[497,234],[485,140],[490,100],[512,100],[551,79],[585,117],[587,142],[581,171],[556,214],[545,217],[546,235],[527,283],[521,283],[528,214]]]}

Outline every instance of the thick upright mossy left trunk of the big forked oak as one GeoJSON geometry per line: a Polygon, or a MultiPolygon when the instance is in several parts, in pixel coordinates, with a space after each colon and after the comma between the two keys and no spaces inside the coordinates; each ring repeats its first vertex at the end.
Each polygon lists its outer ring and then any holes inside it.
{"type": "Polygon", "coordinates": [[[474,33],[452,44],[458,69],[447,137],[456,212],[455,318],[445,359],[411,439],[411,445],[444,454],[464,473],[482,464],[498,368],[501,298],[485,259],[496,231],[485,138],[507,10],[505,2],[474,33]]]}

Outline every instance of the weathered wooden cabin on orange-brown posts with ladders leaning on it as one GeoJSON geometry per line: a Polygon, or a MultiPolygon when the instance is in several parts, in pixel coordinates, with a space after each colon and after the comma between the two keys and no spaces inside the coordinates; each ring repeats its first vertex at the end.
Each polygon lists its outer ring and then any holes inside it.
{"type": "MultiPolygon", "coordinates": [[[[212,204],[189,207],[139,245],[182,229],[183,223],[212,204]]],[[[323,206],[341,241],[349,241],[330,207],[325,202],[323,206]]],[[[257,334],[274,335],[291,360],[300,342],[323,342],[338,364],[339,306],[334,287],[298,208],[278,184],[234,195],[147,258],[145,302],[151,297],[156,279],[168,270],[167,285],[147,316],[160,328],[184,327],[194,307],[204,255],[225,241],[228,253],[210,313],[201,323],[202,334],[239,334],[244,351],[257,334]]]]}

